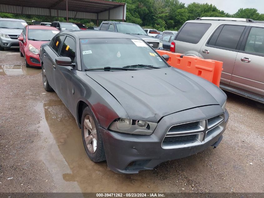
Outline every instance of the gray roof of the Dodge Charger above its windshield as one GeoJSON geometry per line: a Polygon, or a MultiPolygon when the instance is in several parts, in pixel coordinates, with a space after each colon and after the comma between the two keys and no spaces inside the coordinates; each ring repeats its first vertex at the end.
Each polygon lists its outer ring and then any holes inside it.
{"type": "Polygon", "coordinates": [[[86,38],[128,38],[128,39],[138,39],[142,40],[137,36],[118,33],[118,32],[111,32],[111,31],[98,31],[98,30],[90,30],[90,31],[83,31],[83,30],[74,30],[74,31],[63,31],[58,33],[59,34],[68,34],[73,36],[76,39],[86,39],[86,38]]]}

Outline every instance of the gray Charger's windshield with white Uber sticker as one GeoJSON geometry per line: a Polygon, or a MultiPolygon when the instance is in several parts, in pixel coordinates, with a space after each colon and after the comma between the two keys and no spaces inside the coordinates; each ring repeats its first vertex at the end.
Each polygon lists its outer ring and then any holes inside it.
{"type": "MultiPolygon", "coordinates": [[[[80,39],[82,69],[167,64],[144,41],[126,38],[80,39]]],[[[136,66],[135,66],[136,67],[136,66]]]]}

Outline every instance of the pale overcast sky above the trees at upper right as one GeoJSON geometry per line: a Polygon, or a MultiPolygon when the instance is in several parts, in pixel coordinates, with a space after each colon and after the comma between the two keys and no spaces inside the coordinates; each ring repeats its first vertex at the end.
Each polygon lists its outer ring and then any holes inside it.
{"type": "Polygon", "coordinates": [[[234,14],[239,8],[256,8],[259,13],[264,13],[264,1],[262,0],[180,0],[185,5],[193,2],[215,5],[219,10],[234,14]]]}

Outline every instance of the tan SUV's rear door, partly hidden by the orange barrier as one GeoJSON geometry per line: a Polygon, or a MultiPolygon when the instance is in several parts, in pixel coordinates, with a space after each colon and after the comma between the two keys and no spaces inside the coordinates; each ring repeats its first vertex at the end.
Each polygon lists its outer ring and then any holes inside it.
{"type": "Polygon", "coordinates": [[[200,49],[200,57],[223,62],[223,71],[220,80],[222,83],[230,83],[237,52],[247,27],[248,24],[222,24],[216,28],[200,49]]]}

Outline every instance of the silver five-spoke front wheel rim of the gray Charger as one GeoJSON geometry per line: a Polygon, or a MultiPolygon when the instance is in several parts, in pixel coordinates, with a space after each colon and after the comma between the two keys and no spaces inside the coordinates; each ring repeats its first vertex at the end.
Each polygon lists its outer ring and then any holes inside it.
{"type": "Polygon", "coordinates": [[[94,154],[97,148],[97,131],[90,115],[86,115],[84,118],[84,138],[88,151],[94,154]]]}

